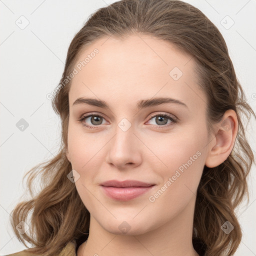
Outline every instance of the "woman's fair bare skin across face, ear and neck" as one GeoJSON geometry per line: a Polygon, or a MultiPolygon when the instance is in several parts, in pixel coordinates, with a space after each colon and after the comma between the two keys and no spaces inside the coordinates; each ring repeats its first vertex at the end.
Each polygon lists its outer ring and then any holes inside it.
{"type": "MultiPolygon", "coordinates": [[[[81,52],[77,63],[94,48],[98,54],[73,77],[69,91],[66,156],[80,175],[75,186],[90,212],[89,236],[77,255],[198,255],[192,246],[197,186],[204,165],[217,166],[231,152],[237,133],[235,112],[227,110],[225,126],[216,123],[214,133],[208,134],[207,99],[197,84],[194,60],[166,41],[136,34],[101,38],[81,52]],[[175,66],[183,72],[178,80],[169,75],[175,66]],[[110,109],[72,105],[78,97],[104,100],[110,109]],[[175,98],[187,107],[166,103],[136,109],[138,100],[152,97],[175,98]],[[90,113],[103,117],[95,129],[78,121],[90,113]],[[168,126],[170,120],[161,125],[150,117],[161,113],[178,121],[168,126]],[[123,118],[131,124],[126,131],[118,126],[123,118]],[[197,151],[200,156],[149,201],[197,151]],[[109,179],[155,186],[134,199],[117,201],[100,187],[109,179]],[[130,227],[126,233],[118,228],[123,221],[130,227]]],[[[83,122],[93,126],[91,117],[83,122]]]]}

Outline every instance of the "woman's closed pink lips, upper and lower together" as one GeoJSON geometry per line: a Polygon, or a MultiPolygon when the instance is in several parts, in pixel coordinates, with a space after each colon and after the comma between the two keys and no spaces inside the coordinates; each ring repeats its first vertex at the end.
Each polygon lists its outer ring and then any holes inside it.
{"type": "Polygon", "coordinates": [[[155,184],[138,180],[108,180],[100,185],[108,197],[115,200],[127,201],[148,192],[155,184]]]}

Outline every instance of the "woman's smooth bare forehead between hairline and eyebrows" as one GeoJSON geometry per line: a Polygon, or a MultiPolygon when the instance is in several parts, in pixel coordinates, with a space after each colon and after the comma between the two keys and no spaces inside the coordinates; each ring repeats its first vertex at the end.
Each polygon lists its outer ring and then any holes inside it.
{"type": "Polygon", "coordinates": [[[100,98],[113,104],[121,101],[128,106],[142,98],[170,96],[190,107],[201,107],[206,99],[194,66],[190,55],[149,35],[104,37],[78,56],[78,73],[69,90],[70,105],[77,97],[100,98]],[[95,48],[98,53],[91,54],[95,48]]]}

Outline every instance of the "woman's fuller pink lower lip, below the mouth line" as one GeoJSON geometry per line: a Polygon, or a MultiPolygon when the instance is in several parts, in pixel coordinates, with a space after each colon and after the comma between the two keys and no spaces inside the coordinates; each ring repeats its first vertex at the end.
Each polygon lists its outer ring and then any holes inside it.
{"type": "Polygon", "coordinates": [[[143,193],[149,191],[154,185],[151,186],[139,186],[139,187],[114,187],[114,186],[101,186],[105,194],[112,199],[120,201],[131,200],[143,193]]]}

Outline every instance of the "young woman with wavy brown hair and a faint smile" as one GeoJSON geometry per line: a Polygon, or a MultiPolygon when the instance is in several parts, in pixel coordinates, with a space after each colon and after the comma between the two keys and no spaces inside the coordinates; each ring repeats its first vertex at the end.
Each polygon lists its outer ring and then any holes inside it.
{"type": "Polygon", "coordinates": [[[234,254],[254,161],[241,115],[256,116],[200,10],[98,9],[70,43],[52,105],[61,148],[29,171],[30,191],[39,174],[44,187],[11,213],[33,248],[9,256],[234,254]]]}

